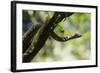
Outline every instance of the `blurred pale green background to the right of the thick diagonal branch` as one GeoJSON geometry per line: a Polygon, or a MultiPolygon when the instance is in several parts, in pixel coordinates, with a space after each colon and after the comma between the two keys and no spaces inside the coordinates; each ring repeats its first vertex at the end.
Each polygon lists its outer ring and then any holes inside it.
{"type": "Polygon", "coordinates": [[[59,36],[72,36],[75,33],[79,33],[82,37],[67,42],[59,42],[50,37],[32,62],[90,59],[90,19],[90,13],[74,13],[69,18],[61,21],[54,30],[59,36]],[[61,30],[64,32],[62,33],[61,30]]]}

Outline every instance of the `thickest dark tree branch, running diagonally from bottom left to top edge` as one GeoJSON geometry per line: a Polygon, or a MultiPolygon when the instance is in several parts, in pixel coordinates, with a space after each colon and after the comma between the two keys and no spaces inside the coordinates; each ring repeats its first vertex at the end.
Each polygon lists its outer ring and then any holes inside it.
{"type": "MultiPolygon", "coordinates": [[[[73,13],[68,13],[67,17],[69,17],[72,14],[73,13]]],[[[54,16],[51,18],[51,20],[48,22],[48,24],[41,26],[41,28],[38,31],[38,39],[36,44],[34,45],[34,49],[28,55],[23,56],[23,62],[30,62],[36,56],[36,54],[44,46],[46,40],[50,36],[50,32],[52,32],[57,26],[57,23],[59,23],[65,17],[65,13],[56,12],[54,16]]]]}

